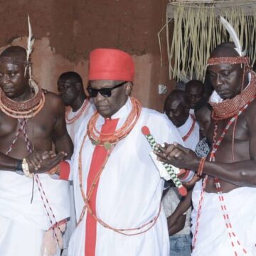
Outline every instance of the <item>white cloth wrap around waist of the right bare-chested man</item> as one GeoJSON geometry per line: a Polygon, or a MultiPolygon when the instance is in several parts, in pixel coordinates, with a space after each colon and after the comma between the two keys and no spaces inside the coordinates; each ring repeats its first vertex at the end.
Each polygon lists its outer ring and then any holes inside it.
{"type": "MultiPolygon", "coordinates": [[[[192,233],[195,233],[196,214],[201,196],[202,182],[198,181],[193,189],[192,233]]],[[[203,206],[199,219],[199,229],[193,256],[216,255],[256,255],[256,188],[241,187],[229,193],[223,193],[225,206],[228,210],[230,223],[236,238],[242,246],[232,247],[225,226],[223,211],[217,193],[204,193],[203,206]]]]}

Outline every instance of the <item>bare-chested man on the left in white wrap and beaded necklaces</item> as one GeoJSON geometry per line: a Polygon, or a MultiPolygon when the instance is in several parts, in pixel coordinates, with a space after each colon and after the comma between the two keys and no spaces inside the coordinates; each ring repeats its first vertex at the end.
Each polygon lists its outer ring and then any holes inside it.
{"type": "Polygon", "coordinates": [[[68,183],[34,173],[53,170],[71,156],[73,144],[62,101],[31,80],[29,65],[19,46],[0,55],[0,254],[60,255],[56,245],[70,215],[68,183]],[[56,156],[42,159],[53,143],[56,156]],[[53,231],[55,223],[60,227],[53,231]],[[49,242],[56,253],[50,254],[49,242]]]}

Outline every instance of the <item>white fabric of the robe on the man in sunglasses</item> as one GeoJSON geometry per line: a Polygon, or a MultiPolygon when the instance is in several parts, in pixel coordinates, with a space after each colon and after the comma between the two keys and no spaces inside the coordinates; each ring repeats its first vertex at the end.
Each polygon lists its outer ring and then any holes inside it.
{"type": "MultiPolygon", "coordinates": [[[[119,118],[117,129],[124,124],[132,110],[130,100],[112,116],[119,118]]],[[[97,120],[96,128],[101,130],[104,119],[97,120]]],[[[159,211],[164,181],[159,176],[149,156],[151,147],[142,134],[143,126],[149,127],[156,142],[178,142],[183,144],[174,125],[164,114],[142,108],[142,113],[132,132],[114,147],[97,188],[96,210],[98,218],[114,228],[136,228],[154,218],[159,211]]],[[[80,129],[75,139],[75,153],[72,159],[75,188],[75,209],[77,219],[85,205],[79,187],[78,154],[85,136],[86,127],[80,129]]],[[[87,188],[87,175],[90,169],[95,146],[87,138],[82,149],[82,186],[87,188]]],[[[70,244],[69,256],[85,255],[85,223],[75,229],[70,244]]],[[[169,256],[169,235],[166,217],[161,210],[153,228],[142,235],[126,236],[104,228],[97,223],[95,255],[97,256],[169,256]]]]}

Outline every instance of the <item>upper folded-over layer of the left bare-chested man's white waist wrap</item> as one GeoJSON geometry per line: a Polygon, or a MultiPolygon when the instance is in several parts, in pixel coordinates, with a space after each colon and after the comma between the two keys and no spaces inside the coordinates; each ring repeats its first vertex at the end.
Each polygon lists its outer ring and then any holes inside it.
{"type": "MultiPolygon", "coordinates": [[[[70,216],[68,182],[54,180],[48,174],[39,174],[39,178],[55,215],[53,218],[48,203],[45,203],[53,224],[55,220],[58,222],[68,218],[70,216]]],[[[0,171],[0,215],[28,225],[35,225],[42,230],[48,230],[52,225],[43,206],[36,181],[33,188],[33,178],[26,178],[11,171],[0,171]]]]}

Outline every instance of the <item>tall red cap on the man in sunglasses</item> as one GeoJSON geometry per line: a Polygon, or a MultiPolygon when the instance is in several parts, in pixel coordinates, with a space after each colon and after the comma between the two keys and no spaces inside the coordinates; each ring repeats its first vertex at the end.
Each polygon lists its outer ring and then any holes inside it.
{"type": "Polygon", "coordinates": [[[134,62],[128,53],[117,49],[95,49],[90,52],[89,80],[134,80],[134,62]]]}

